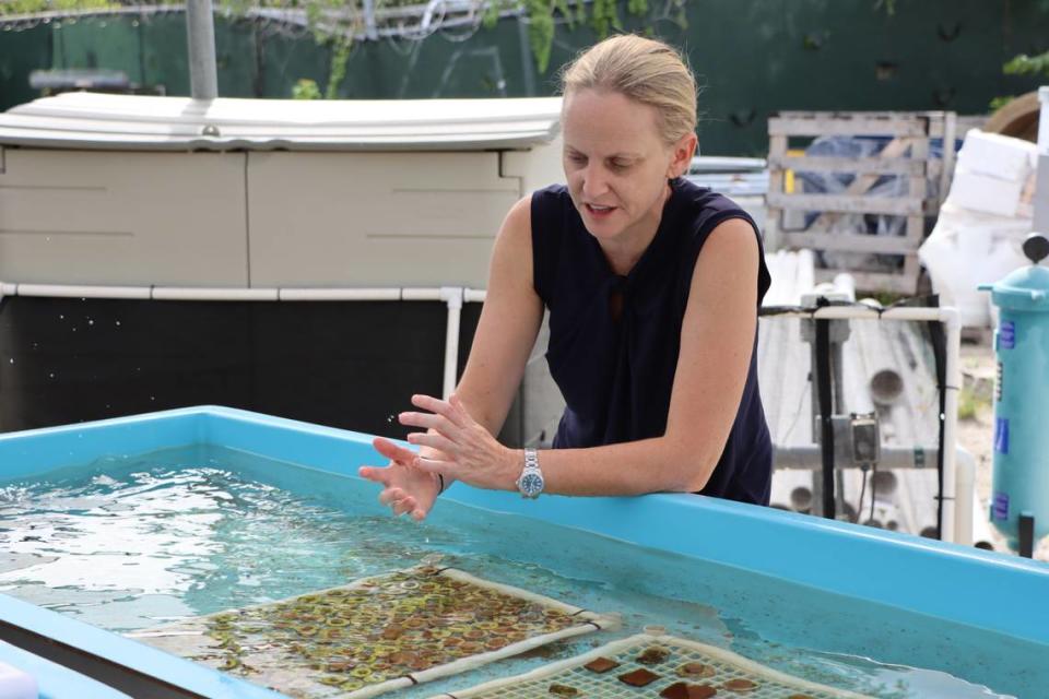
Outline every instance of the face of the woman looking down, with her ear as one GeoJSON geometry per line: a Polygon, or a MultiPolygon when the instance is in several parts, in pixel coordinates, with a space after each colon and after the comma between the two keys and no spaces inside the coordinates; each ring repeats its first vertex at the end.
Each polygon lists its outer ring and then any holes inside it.
{"type": "Polygon", "coordinates": [[[568,191],[587,230],[602,241],[647,244],[662,215],[667,180],[684,174],[695,135],[668,145],[655,107],[598,90],[568,94],[562,125],[568,191]]]}

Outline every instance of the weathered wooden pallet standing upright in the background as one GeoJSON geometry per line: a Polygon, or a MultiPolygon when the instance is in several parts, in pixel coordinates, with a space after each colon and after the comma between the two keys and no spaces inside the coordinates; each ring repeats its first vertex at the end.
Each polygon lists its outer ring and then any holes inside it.
{"type": "Polygon", "coordinates": [[[924,217],[935,215],[950,189],[954,170],[956,116],[950,111],[931,112],[827,112],[787,111],[768,120],[768,221],[766,237],[778,247],[842,252],[868,252],[899,256],[899,272],[875,272],[863,269],[817,270],[816,281],[827,281],[848,271],[858,289],[915,294],[920,266],[918,247],[924,237],[924,217]],[[826,135],[888,137],[892,140],[872,157],[816,157],[795,155],[789,151],[790,139],[826,135]],[[930,139],[942,138],[944,158],[931,159],[930,139]],[[847,173],[856,178],[844,193],[813,194],[788,192],[789,171],[847,173]],[[883,175],[906,177],[904,197],[872,197],[871,188],[883,175]],[[927,191],[928,177],[939,179],[938,196],[927,191]],[[818,216],[802,228],[790,228],[785,214],[817,212],[818,216]],[[882,214],[906,218],[904,236],[872,236],[845,233],[838,227],[842,214],[882,214]]]}

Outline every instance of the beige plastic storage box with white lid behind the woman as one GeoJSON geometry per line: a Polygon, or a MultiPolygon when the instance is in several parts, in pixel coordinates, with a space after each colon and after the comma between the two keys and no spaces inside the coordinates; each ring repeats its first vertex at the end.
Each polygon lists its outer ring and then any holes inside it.
{"type": "Polygon", "coordinates": [[[564,178],[559,119],[557,97],[42,97],[0,114],[0,280],[484,288],[506,212],[564,178]]]}

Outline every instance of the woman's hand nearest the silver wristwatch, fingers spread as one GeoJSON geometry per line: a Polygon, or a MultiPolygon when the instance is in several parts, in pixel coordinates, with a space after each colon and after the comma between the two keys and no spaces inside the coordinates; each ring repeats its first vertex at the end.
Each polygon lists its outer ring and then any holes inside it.
{"type": "Polygon", "coordinates": [[[420,427],[431,433],[411,433],[408,441],[433,447],[446,460],[415,460],[417,467],[445,477],[462,481],[476,488],[512,490],[521,472],[517,452],[500,445],[483,425],[467,412],[462,401],[452,394],[447,401],[429,395],[413,395],[412,405],[428,413],[405,412],[399,416],[402,425],[420,427]]]}

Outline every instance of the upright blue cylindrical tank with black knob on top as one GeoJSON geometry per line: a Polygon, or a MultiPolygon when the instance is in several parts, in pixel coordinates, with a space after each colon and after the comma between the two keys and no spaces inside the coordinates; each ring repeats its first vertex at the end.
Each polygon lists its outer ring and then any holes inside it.
{"type": "Polygon", "coordinates": [[[1029,266],[980,286],[1000,309],[990,520],[1014,549],[1021,516],[1034,518],[1035,542],[1049,534],[1049,270],[1038,264],[1049,239],[1032,234],[1024,253],[1029,266]]]}

